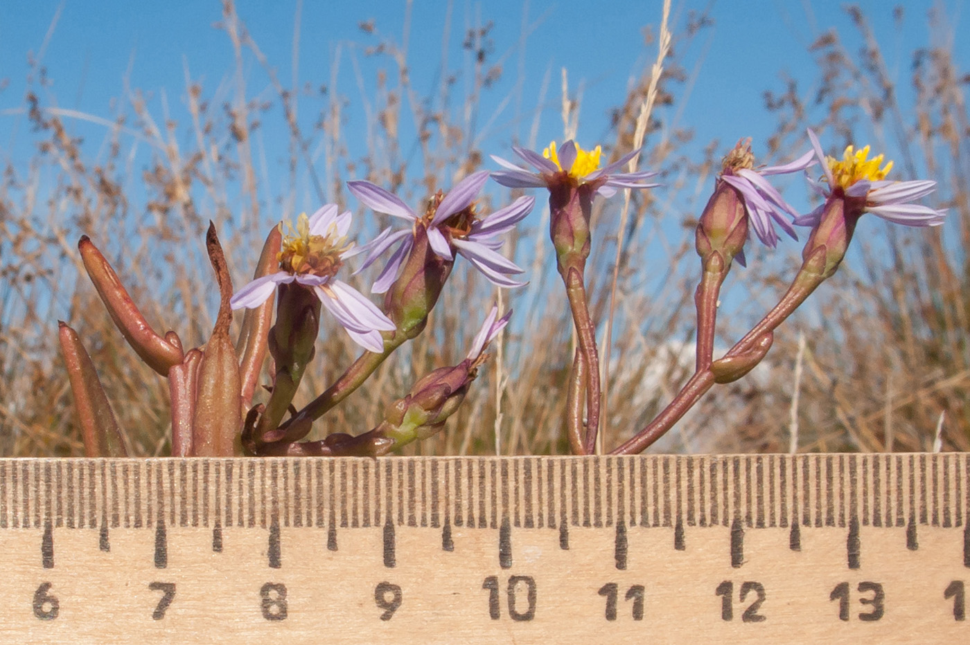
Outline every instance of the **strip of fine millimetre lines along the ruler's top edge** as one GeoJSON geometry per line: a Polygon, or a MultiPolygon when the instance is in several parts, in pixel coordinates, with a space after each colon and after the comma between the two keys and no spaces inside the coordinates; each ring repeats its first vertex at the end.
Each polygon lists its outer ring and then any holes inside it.
{"type": "Polygon", "coordinates": [[[964,526],[968,474],[966,453],[0,459],[0,529],[96,528],[103,543],[108,528],[166,526],[912,533],[964,526]]]}

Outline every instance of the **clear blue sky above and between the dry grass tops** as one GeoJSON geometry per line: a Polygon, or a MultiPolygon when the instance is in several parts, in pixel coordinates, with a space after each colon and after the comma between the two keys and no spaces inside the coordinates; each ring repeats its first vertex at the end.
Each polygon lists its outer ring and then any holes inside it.
{"type": "MultiPolygon", "coordinates": [[[[890,74],[898,78],[901,88],[908,88],[912,51],[931,44],[933,35],[926,20],[930,3],[899,3],[903,8],[899,21],[894,19],[890,3],[868,0],[858,4],[872,23],[890,74]]],[[[408,15],[405,6],[404,2],[390,1],[239,0],[237,9],[285,85],[290,86],[294,79],[297,85],[329,85],[331,69],[339,61],[337,89],[351,100],[346,109],[347,130],[359,139],[367,123],[354,75],[355,61],[365,68],[365,96],[372,93],[374,71],[388,67],[386,58],[374,60],[364,55],[365,48],[379,39],[362,33],[359,25],[373,20],[381,36],[401,44],[408,15]],[[299,54],[295,69],[294,50],[299,54]]],[[[950,17],[951,37],[970,33],[962,2],[951,0],[942,6],[950,17]]],[[[456,0],[450,4],[415,0],[407,30],[412,83],[419,94],[436,87],[446,31],[448,67],[461,70],[463,57],[469,55],[461,46],[465,31],[493,21],[490,57],[501,61],[503,74],[496,89],[482,99],[482,151],[510,156],[510,142],[528,142],[536,113],[540,116],[536,138],[540,146],[562,138],[559,75],[563,67],[568,70],[572,88],[580,84],[584,87],[579,142],[594,144],[608,138],[609,108],[622,101],[631,79],[648,68],[656,56],[656,43],[645,44],[643,28],[659,24],[661,8],[661,0],[601,0],[596,8],[593,3],[565,0],[456,0]],[[543,95],[544,79],[549,84],[543,95]],[[506,95],[513,99],[503,104],[506,95]]],[[[810,96],[819,73],[813,58],[816,54],[809,46],[830,28],[839,31],[851,50],[855,51],[859,43],[843,3],[832,0],[675,1],[675,30],[697,12],[707,12],[712,25],[689,43],[676,45],[688,78],[678,90],[675,109],[665,111],[663,120],[668,131],[693,129],[697,150],[716,138],[720,150],[727,151],[738,138],[753,137],[755,153],[760,154],[763,139],[775,127],[774,117],[763,105],[764,90],[782,91],[784,77],[793,77],[801,94],[810,96]]],[[[215,0],[2,0],[0,80],[6,86],[0,90],[0,163],[25,169],[36,153],[37,141],[23,113],[30,74],[28,53],[39,57],[47,71],[48,84],[41,90],[45,105],[110,119],[119,97],[137,88],[146,92],[156,117],[167,104],[179,121],[179,137],[190,139],[186,75],[201,82],[208,96],[231,97],[233,50],[225,32],[215,27],[220,19],[221,5],[215,0]]],[[[953,46],[957,63],[965,71],[970,43],[955,39],[953,46]]],[[[251,56],[246,57],[245,78],[251,94],[269,87],[266,75],[251,56]]],[[[468,83],[469,79],[459,78],[458,82],[468,83]]],[[[901,97],[903,103],[907,98],[901,97]]],[[[309,125],[315,112],[305,109],[301,118],[309,125]]],[[[84,138],[86,150],[93,157],[104,154],[103,125],[83,119],[67,122],[74,134],[84,138]]],[[[267,118],[258,136],[267,150],[265,178],[272,184],[285,175],[285,124],[280,118],[267,118]]],[[[858,133],[858,142],[865,143],[872,136],[858,133]]],[[[827,142],[833,146],[840,143],[827,142]]],[[[126,189],[141,190],[136,184],[138,170],[148,167],[145,150],[146,146],[139,150],[133,184],[126,189]]],[[[793,150],[791,157],[803,151],[793,150]]],[[[490,162],[488,167],[495,168],[490,162]]],[[[264,200],[283,192],[261,187],[263,190],[264,200]]],[[[316,208],[318,200],[306,173],[298,193],[298,203],[288,204],[283,210],[289,212],[283,216],[316,208]]],[[[789,198],[796,207],[808,206],[807,192],[801,187],[790,191],[789,198]]],[[[351,201],[346,205],[353,208],[358,204],[351,201]]],[[[675,220],[671,220],[671,227],[677,227],[675,220]]],[[[792,248],[792,252],[796,250],[792,248]]]]}

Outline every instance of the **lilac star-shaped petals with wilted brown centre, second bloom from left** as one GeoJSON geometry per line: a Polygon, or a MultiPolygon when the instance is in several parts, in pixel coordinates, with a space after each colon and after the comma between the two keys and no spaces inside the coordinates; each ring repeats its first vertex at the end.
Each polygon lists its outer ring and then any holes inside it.
{"type": "Polygon", "coordinates": [[[351,255],[367,254],[364,263],[357,269],[359,273],[392,246],[398,245],[371,291],[387,292],[397,280],[414,243],[414,231],[418,226],[426,230],[428,242],[439,258],[453,261],[454,253],[464,256],[492,284],[499,287],[521,287],[526,284],[509,277],[522,273],[523,269],[502,256],[499,249],[503,243],[501,235],[512,230],[517,222],[529,214],[534,200],[522,197],[491,215],[479,217],[475,212],[474,200],[487,180],[487,171],[474,172],[458,182],[446,195],[439,191],[430,200],[423,217],[397,196],[370,181],[348,181],[350,192],[372,210],[411,223],[409,229],[382,230],[371,242],[352,252],[351,255]]]}

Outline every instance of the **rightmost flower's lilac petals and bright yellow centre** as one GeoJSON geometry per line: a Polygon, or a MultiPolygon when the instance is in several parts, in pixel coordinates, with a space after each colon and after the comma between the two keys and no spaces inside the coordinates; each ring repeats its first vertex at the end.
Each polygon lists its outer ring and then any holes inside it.
{"type": "MultiPolygon", "coordinates": [[[[812,186],[825,199],[843,199],[850,205],[847,213],[858,217],[862,213],[878,215],[889,222],[908,227],[932,227],[943,224],[946,210],[937,210],[919,203],[934,190],[936,182],[926,179],[915,181],[889,181],[886,177],[892,162],[883,163],[883,155],[869,159],[869,146],[856,150],[846,148],[842,159],[825,156],[819,138],[811,130],[815,156],[822,163],[822,181],[811,181],[812,186]]],[[[807,215],[795,218],[799,226],[815,227],[822,221],[825,203],[807,215]]]]}

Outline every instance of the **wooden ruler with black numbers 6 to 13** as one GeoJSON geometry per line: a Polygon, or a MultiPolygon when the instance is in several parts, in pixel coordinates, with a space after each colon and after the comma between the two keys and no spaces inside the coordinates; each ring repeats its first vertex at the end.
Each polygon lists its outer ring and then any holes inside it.
{"type": "Polygon", "coordinates": [[[4,459],[0,642],[965,643],[968,519],[967,453],[4,459]]]}

